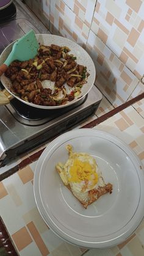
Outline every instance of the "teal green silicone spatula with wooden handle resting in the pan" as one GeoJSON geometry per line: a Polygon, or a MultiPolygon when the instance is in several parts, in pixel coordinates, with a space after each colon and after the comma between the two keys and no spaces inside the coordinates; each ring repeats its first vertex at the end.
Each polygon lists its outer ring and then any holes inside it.
{"type": "Polygon", "coordinates": [[[37,38],[35,37],[35,32],[33,30],[16,40],[13,44],[12,51],[4,64],[0,65],[0,76],[7,70],[13,60],[25,61],[33,59],[35,55],[37,55],[38,47],[37,38]]]}

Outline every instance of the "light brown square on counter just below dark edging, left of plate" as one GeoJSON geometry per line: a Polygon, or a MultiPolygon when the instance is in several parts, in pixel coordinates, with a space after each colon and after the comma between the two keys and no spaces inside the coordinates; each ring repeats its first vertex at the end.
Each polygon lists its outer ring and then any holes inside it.
{"type": "Polygon", "coordinates": [[[27,182],[33,180],[34,178],[34,172],[32,172],[32,169],[30,166],[26,166],[23,169],[18,171],[18,175],[23,182],[23,184],[26,184],[27,182]]]}

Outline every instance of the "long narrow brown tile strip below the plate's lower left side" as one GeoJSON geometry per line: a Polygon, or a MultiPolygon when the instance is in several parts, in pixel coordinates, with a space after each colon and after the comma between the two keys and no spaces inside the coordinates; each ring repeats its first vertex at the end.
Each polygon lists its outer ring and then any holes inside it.
{"type": "Polygon", "coordinates": [[[38,249],[40,250],[41,254],[43,256],[46,256],[49,254],[49,250],[46,247],[45,243],[43,242],[40,234],[38,233],[38,230],[36,229],[34,222],[29,222],[29,224],[27,224],[27,228],[29,229],[29,232],[32,235],[32,238],[34,239],[35,243],[38,246],[38,249]]]}

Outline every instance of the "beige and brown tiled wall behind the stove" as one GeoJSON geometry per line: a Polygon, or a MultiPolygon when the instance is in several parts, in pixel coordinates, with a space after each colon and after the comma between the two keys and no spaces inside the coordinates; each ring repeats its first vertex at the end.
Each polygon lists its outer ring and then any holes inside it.
{"type": "Polygon", "coordinates": [[[52,34],[70,38],[88,51],[95,62],[95,84],[113,106],[144,91],[143,0],[25,2],[52,34]]]}

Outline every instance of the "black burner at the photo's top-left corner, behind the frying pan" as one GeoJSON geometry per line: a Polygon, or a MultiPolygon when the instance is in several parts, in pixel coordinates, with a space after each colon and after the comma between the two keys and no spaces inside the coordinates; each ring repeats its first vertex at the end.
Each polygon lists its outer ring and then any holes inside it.
{"type": "Polygon", "coordinates": [[[16,15],[15,4],[10,4],[5,9],[0,10],[0,23],[8,20],[12,20],[16,15]]]}

